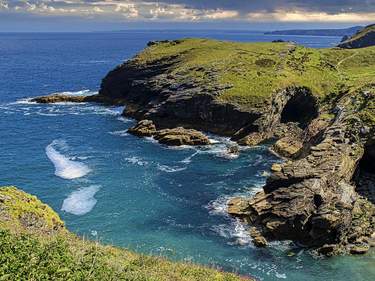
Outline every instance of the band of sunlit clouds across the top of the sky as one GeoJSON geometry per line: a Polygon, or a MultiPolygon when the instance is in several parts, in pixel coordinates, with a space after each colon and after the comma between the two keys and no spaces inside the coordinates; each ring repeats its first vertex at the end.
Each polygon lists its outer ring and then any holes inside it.
{"type": "Polygon", "coordinates": [[[327,2],[0,0],[0,12],[120,21],[366,22],[375,19],[375,0],[327,2]]]}

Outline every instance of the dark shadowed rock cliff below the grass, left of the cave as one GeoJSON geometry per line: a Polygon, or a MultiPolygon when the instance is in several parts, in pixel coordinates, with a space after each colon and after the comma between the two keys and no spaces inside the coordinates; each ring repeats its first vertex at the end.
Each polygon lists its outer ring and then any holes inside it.
{"type": "Polygon", "coordinates": [[[178,62],[177,56],[142,64],[130,60],[108,73],[100,95],[126,100],[124,115],[152,120],[160,128],[184,127],[232,136],[262,115],[259,109],[243,110],[218,100],[231,86],[214,83],[214,69],[205,73],[213,81],[207,85],[186,73],[171,73],[178,62]]]}

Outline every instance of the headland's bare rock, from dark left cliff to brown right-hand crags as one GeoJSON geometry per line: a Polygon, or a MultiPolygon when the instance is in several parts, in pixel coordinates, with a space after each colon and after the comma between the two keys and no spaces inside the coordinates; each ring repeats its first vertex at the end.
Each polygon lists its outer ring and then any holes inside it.
{"type": "MultiPolygon", "coordinates": [[[[319,108],[310,89],[293,86],[244,109],[217,98],[232,86],[217,83],[214,67],[204,72],[213,83],[202,84],[173,71],[179,59],[172,55],[140,64],[130,60],[103,79],[98,98],[121,101],[124,115],[142,120],[129,132],[168,145],[209,144],[206,136],[186,128],[230,136],[249,146],[277,139],[273,150],[290,161],[273,165],[264,190],[253,198],[232,200],[228,212],[252,225],[249,235],[258,246],[292,239],[327,255],[364,252],[375,239],[374,205],[367,200],[368,192],[358,187],[372,190],[360,184],[371,183],[372,174],[364,176],[362,169],[359,179],[353,178],[364,145],[374,134],[358,114],[370,108],[374,94],[360,100],[357,93],[344,96],[334,101],[337,108],[332,110],[319,108]],[[334,117],[323,118],[324,110],[334,117]]],[[[271,61],[257,64],[263,67],[271,61]]]]}

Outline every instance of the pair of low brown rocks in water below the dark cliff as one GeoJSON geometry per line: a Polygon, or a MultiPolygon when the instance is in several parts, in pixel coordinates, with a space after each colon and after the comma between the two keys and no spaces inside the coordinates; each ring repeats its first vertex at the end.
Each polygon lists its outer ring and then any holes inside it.
{"type": "Polygon", "coordinates": [[[170,146],[210,144],[208,137],[197,130],[182,127],[157,130],[151,120],[138,122],[138,124],[130,128],[128,132],[139,137],[154,137],[159,143],[170,146]]]}

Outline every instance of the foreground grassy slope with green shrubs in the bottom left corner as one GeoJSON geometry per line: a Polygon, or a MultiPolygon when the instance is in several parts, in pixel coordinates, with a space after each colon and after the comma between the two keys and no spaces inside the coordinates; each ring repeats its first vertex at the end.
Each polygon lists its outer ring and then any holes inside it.
{"type": "MultiPolygon", "coordinates": [[[[245,280],[85,241],[36,197],[0,188],[0,280],[245,280]]],[[[248,279],[246,279],[248,280],[248,279]]]]}

